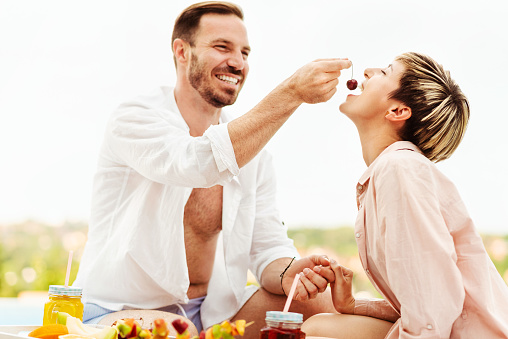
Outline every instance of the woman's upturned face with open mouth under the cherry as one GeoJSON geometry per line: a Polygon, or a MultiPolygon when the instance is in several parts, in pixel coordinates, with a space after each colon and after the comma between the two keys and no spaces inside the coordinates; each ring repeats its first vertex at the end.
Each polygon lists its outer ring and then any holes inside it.
{"type": "Polygon", "coordinates": [[[339,109],[353,122],[384,118],[390,107],[395,103],[389,94],[399,88],[400,77],[404,66],[393,61],[386,68],[367,68],[360,95],[349,94],[339,109]]]}

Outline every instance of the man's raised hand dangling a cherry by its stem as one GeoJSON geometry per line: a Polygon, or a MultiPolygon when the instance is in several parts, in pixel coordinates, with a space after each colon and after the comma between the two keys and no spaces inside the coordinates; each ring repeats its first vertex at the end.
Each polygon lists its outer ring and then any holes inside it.
{"type": "Polygon", "coordinates": [[[300,102],[328,101],[337,92],[340,71],[351,67],[347,59],[318,59],[298,69],[283,85],[300,102]]]}

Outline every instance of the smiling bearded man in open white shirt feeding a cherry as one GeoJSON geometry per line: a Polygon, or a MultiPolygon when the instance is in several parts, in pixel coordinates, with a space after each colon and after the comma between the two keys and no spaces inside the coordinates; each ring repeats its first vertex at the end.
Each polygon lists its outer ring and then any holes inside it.
{"type": "Polygon", "coordinates": [[[305,318],[334,311],[331,298],[318,296],[334,279],[329,262],[299,259],[275,206],[271,158],[261,150],[302,103],[330,99],[350,63],[305,65],[229,121],[222,107],[245,82],[249,52],[240,8],[191,5],[173,31],[174,89],[113,114],[74,283],[83,287],[85,321],[156,309],[185,315],[198,331],[225,319],[253,320],[247,338],[258,337],[266,311],[283,309],[302,271],[291,310],[305,318]],[[260,289],[246,287],[249,269],[260,289]]]}

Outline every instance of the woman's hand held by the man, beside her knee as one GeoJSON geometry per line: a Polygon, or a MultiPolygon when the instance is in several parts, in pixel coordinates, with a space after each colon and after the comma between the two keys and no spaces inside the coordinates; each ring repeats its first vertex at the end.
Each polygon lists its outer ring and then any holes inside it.
{"type": "Polygon", "coordinates": [[[353,271],[339,265],[337,261],[330,261],[330,268],[335,274],[335,281],[330,283],[332,289],[333,306],[337,312],[354,314],[355,298],[353,297],[353,271]]]}

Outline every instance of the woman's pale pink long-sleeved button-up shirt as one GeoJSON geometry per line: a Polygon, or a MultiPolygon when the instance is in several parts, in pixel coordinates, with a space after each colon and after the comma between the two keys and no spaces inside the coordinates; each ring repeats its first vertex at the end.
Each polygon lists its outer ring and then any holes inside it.
{"type": "Polygon", "coordinates": [[[508,286],[455,186],[414,144],[386,148],[357,201],[360,259],[385,300],[357,299],[355,314],[395,321],[386,338],[508,338],[508,286]]]}

